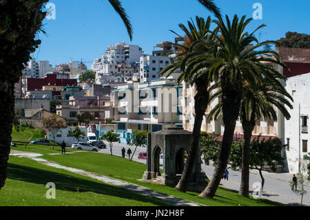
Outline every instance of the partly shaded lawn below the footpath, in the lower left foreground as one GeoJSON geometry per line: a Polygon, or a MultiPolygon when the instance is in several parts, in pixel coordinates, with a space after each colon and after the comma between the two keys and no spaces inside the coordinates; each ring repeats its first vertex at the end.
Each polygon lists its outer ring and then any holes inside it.
{"type": "Polygon", "coordinates": [[[0,206],[171,206],[32,159],[10,157],[0,206]],[[46,199],[46,183],[56,184],[56,199],[46,199]]]}

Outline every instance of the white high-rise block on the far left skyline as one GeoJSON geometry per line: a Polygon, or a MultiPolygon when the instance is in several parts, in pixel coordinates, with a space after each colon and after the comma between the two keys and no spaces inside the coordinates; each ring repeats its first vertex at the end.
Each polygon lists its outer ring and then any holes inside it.
{"type": "Polygon", "coordinates": [[[54,72],[54,68],[49,61],[36,61],[31,59],[28,66],[22,71],[26,78],[43,78],[45,73],[54,72]]]}

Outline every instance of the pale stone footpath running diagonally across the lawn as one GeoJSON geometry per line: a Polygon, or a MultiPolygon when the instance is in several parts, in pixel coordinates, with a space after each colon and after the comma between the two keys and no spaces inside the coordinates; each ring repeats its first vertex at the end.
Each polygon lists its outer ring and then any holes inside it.
{"type": "MultiPolygon", "coordinates": [[[[72,152],[72,153],[74,153],[74,152],[72,152]]],[[[143,186],[138,186],[138,185],[133,184],[133,183],[127,183],[125,181],[120,181],[118,179],[112,179],[110,177],[105,177],[105,176],[97,176],[96,174],[92,174],[91,172],[86,172],[85,170],[69,168],[66,166],[61,166],[58,163],[52,163],[52,162],[47,161],[45,159],[37,158],[37,157],[43,156],[42,154],[34,154],[31,152],[18,152],[17,150],[14,150],[10,153],[10,155],[16,156],[16,157],[27,157],[29,159],[33,159],[34,161],[38,161],[39,163],[43,163],[46,166],[52,166],[54,168],[68,170],[70,172],[74,172],[76,174],[81,174],[83,176],[90,177],[92,179],[97,179],[99,181],[102,181],[103,183],[107,183],[107,184],[110,184],[113,186],[118,186],[121,188],[125,188],[126,190],[130,190],[132,192],[143,194],[147,197],[154,197],[156,199],[161,199],[162,201],[165,201],[167,203],[171,203],[174,206],[203,206],[201,204],[193,203],[190,201],[185,201],[183,199],[178,199],[176,197],[172,197],[172,196],[169,196],[167,194],[154,192],[153,190],[151,190],[149,188],[145,188],[143,186]]]]}

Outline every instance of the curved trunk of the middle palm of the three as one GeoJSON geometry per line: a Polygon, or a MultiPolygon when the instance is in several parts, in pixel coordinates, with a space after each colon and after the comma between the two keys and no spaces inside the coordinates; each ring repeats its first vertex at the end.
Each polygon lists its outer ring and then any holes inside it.
{"type": "Polygon", "coordinates": [[[213,177],[209,181],[209,184],[203,192],[199,194],[199,197],[213,198],[220,180],[223,177],[225,168],[227,168],[227,162],[229,158],[229,152],[231,143],[234,137],[234,130],[236,127],[236,121],[239,116],[240,110],[240,94],[234,92],[223,92],[223,121],[225,123],[225,131],[223,134],[222,146],[220,148],[220,155],[216,162],[216,168],[213,173],[213,177]]]}

